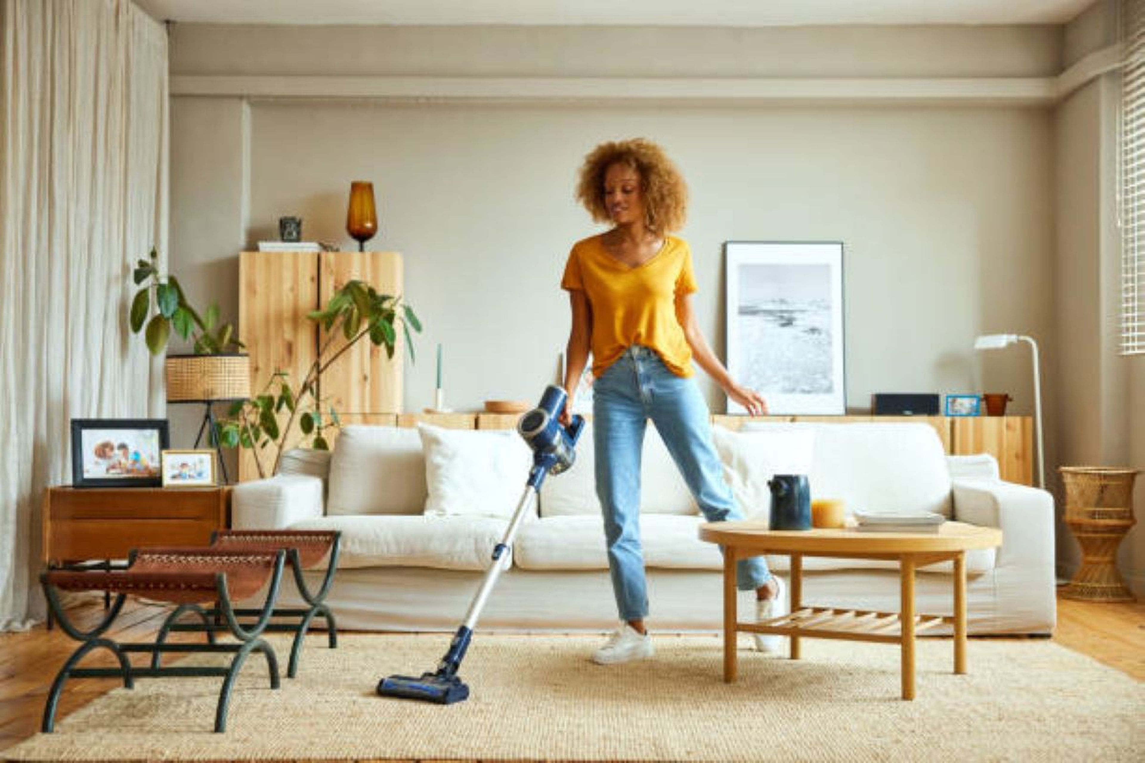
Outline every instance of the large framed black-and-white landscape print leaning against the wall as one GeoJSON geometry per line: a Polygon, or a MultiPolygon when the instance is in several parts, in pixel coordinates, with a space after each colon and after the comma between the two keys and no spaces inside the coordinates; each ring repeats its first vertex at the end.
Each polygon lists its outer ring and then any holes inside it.
{"type": "MultiPolygon", "coordinates": [[[[846,413],[842,241],[727,241],[727,369],[771,414],[846,413]]],[[[728,398],[728,413],[745,410],[728,398]]]]}

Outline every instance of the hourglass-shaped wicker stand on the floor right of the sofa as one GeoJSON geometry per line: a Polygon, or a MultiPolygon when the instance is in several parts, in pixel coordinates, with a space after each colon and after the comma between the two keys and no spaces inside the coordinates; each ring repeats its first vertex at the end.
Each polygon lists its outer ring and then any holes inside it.
{"type": "Polygon", "coordinates": [[[1065,523],[1081,546],[1081,566],[1061,589],[1065,598],[1132,602],[1118,572],[1118,548],[1134,526],[1136,469],[1060,467],[1066,490],[1065,523]]]}

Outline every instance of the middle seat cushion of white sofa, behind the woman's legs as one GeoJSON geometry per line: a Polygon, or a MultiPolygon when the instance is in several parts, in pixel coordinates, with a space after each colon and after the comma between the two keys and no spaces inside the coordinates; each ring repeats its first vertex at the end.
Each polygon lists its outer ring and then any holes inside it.
{"type": "MultiPolygon", "coordinates": [[[[645,514],[640,540],[645,565],[677,570],[722,570],[719,548],[700,540],[698,516],[645,514]]],[[[522,570],[607,570],[603,520],[592,516],[547,517],[521,527],[513,556],[522,570]]]]}

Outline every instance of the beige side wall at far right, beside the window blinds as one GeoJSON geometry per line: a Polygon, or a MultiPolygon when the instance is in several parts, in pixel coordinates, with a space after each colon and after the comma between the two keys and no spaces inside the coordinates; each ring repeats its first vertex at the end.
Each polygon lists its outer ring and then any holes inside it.
{"type": "MultiPolygon", "coordinates": [[[[1097,2],[1065,29],[1066,63],[1116,40],[1116,3],[1097,2]]],[[[1055,116],[1057,167],[1056,326],[1060,351],[1049,366],[1060,392],[1058,463],[1126,466],[1145,462],[1145,399],[1140,358],[1118,355],[1121,239],[1118,230],[1116,120],[1121,97],[1116,72],[1072,93],[1055,116]]],[[[1060,493],[1060,480],[1052,485],[1060,493]]],[[[1145,491],[1137,488],[1137,514],[1145,491]]],[[[1058,533],[1061,571],[1072,573],[1079,547],[1064,526],[1058,533]]],[[[1145,594],[1145,533],[1122,543],[1121,570],[1145,594]]]]}

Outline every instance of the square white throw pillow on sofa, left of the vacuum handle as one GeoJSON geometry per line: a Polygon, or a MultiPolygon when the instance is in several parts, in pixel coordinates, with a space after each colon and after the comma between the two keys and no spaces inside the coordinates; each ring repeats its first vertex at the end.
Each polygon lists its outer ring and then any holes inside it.
{"type": "Polygon", "coordinates": [[[418,432],[426,459],[426,515],[513,516],[532,464],[515,430],[418,424],[418,432]]]}

